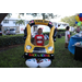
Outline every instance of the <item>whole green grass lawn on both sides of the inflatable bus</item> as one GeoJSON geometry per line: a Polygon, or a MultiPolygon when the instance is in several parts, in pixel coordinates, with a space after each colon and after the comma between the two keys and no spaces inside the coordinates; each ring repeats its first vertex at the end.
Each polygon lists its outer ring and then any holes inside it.
{"type": "MultiPolygon", "coordinates": [[[[24,46],[21,45],[0,51],[0,68],[27,68],[24,58],[21,57],[24,54],[23,50],[24,46]]],[[[57,38],[55,43],[55,59],[48,68],[82,68],[82,62],[74,60],[74,56],[65,48],[65,36],[57,38]]]]}

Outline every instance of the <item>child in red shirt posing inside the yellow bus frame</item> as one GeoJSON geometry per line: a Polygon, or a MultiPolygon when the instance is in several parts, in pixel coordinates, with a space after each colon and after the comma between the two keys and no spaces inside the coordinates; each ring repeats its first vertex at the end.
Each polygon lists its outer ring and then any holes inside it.
{"type": "Polygon", "coordinates": [[[38,32],[38,35],[35,36],[34,45],[44,46],[45,45],[45,38],[44,38],[44,35],[42,34],[43,30],[38,28],[37,32],[38,32]]]}

